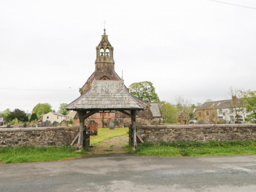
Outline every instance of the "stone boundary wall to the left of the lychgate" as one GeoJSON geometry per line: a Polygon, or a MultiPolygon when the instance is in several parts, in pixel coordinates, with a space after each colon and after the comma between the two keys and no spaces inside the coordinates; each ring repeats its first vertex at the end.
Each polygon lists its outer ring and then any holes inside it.
{"type": "Polygon", "coordinates": [[[79,127],[38,127],[0,129],[0,147],[14,146],[64,146],[69,145],[79,132],[79,127]]]}

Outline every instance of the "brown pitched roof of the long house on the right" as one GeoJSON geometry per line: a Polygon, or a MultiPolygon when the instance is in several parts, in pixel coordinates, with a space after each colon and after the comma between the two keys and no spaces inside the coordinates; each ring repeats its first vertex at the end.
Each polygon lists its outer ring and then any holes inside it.
{"type": "Polygon", "coordinates": [[[199,110],[206,110],[206,109],[223,109],[223,108],[234,108],[234,107],[242,107],[243,100],[242,99],[232,99],[229,100],[222,100],[222,101],[211,101],[205,102],[202,106],[200,106],[199,110]]]}

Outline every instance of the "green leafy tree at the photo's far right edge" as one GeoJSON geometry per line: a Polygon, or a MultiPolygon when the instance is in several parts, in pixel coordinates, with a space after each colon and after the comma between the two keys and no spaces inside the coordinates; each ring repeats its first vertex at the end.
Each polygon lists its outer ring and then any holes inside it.
{"type": "Polygon", "coordinates": [[[253,120],[256,122],[256,91],[240,91],[242,95],[242,99],[245,101],[244,107],[246,108],[246,112],[252,112],[248,116],[248,120],[253,120]]]}

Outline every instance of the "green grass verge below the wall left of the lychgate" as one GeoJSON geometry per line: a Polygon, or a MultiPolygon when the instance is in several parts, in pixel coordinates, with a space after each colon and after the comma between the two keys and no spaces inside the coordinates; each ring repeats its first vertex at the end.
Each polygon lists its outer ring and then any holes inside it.
{"type": "Polygon", "coordinates": [[[89,153],[86,150],[76,151],[71,146],[51,146],[51,147],[1,147],[0,163],[24,163],[58,161],[64,159],[80,158],[89,153]]]}

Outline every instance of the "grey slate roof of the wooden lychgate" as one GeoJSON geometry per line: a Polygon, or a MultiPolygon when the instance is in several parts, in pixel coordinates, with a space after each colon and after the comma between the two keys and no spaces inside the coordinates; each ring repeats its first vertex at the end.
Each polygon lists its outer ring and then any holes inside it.
{"type": "Polygon", "coordinates": [[[93,80],[91,89],[68,104],[65,109],[144,110],[146,107],[125,90],[124,80],[93,80]]]}

